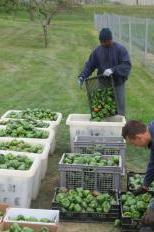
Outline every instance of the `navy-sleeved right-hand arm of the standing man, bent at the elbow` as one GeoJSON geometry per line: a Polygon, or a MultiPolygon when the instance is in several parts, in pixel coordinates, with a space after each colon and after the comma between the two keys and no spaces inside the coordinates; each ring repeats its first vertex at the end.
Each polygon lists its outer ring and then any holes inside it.
{"type": "Polygon", "coordinates": [[[115,76],[127,77],[131,70],[131,61],[126,48],[121,47],[119,53],[119,64],[112,68],[115,76]]]}

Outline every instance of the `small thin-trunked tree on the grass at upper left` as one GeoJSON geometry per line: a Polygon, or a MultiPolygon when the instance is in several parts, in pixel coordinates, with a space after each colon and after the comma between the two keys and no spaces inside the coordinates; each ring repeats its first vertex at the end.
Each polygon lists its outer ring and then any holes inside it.
{"type": "Polygon", "coordinates": [[[45,48],[48,46],[48,28],[53,17],[67,9],[70,9],[70,0],[32,0],[35,4],[37,15],[43,28],[45,48]]]}

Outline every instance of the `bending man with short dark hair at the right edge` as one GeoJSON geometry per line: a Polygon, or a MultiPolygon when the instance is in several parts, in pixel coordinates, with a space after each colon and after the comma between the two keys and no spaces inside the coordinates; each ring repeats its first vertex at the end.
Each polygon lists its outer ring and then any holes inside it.
{"type": "MultiPolygon", "coordinates": [[[[123,127],[122,136],[129,144],[138,147],[147,147],[150,149],[150,160],[147,166],[143,185],[140,186],[134,194],[139,195],[146,193],[150,184],[154,181],[154,121],[146,126],[142,122],[130,120],[123,127]]],[[[142,222],[154,227],[154,198],[151,200],[142,222]]]]}

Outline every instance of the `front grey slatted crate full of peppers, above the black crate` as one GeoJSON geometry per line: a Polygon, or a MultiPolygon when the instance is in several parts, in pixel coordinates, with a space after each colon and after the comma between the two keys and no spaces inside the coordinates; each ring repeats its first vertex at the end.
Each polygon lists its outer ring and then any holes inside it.
{"type": "MultiPolygon", "coordinates": [[[[65,155],[66,154],[63,154],[59,162],[60,187],[69,189],[82,187],[99,192],[120,190],[122,165],[120,156],[119,166],[98,167],[96,165],[65,164],[63,162],[65,155]]],[[[89,156],[90,155],[94,156],[93,154],[89,154],[89,156]]],[[[106,159],[110,157],[111,156],[103,156],[103,158],[106,159]]]]}

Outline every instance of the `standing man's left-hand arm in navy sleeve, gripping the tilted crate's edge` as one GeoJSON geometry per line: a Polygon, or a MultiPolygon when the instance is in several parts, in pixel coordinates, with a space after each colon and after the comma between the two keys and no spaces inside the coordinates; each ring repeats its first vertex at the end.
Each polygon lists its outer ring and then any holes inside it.
{"type": "Polygon", "coordinates": [[[83,77],[83,80],[87,79],[92,72],[98,67],[96,51],[94,50],[90,56],[88,61],[85,63],[83,71],[80,73],[79,77],[83,77]]]}

